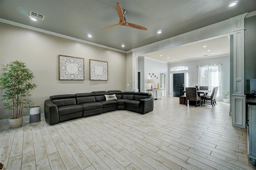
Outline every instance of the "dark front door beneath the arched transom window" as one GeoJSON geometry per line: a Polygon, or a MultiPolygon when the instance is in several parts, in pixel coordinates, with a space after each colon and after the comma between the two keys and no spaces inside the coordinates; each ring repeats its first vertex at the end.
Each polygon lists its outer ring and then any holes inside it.
{"type": "Polygon", "coordinates": [[[184,73],[173,74],[173,96],[179,97],[184,90],[184,73]]]}

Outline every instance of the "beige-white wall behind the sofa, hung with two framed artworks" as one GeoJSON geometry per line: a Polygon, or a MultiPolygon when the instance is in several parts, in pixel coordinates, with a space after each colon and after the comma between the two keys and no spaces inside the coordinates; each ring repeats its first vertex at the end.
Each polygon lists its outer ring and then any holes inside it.
{"type": "MultiPolygon", "coordinates": [[[[20,60],[34,72],[38,87],[31,92],[32,105],[40,106],[41,113],[44,113],[44,101],[51,95],[126,91],[126,53],[4,23],[0,23],[0,47],[0,64],[20,60]],[[58,80],[59,54],[84,58],[84,81],[58,80]],[[108,61],[108,81],[90,81],[89,59],[108,61]]],[[[0,119],[8,119],[9,112],[2,103],[0,101],[0,119]]],[[[28,109],[24,111],[23,116],[26,115],[29,115],[28,109]]]]}

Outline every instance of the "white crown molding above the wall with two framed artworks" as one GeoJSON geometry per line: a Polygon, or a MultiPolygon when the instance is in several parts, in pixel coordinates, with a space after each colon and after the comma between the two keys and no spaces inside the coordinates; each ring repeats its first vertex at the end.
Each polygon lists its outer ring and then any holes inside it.
{"type": "Polygon", "coordinates": [[[56,32],[50,32],[50,31],[47,31],[47,30],[43,30],[43,29],[40,29],[40,28],[28,26],[28,25],[25,25],[25,24],[20,24],[18,22],[9,21],[9,20],[5,20],[5,19],[2,19],[2,18],[0,18],[0,22],[5,23],[5,24],[10,24],[10,25],[13,25],[13,26],[18,26],[18,27],[21,27],[21,28],[26,28],[26,29],[29,29],[29,30],[37,31],[37,32],[42,32],[42,33],[45,33],[45,34],[50,34],[52,36],[66,38],[66,39],[74,40],[74,41],[77,41],[77,42],[87,43],[87,44],[90,44],[90,45],[94,45],[94,46],[98,46],[98,47],[102,47],[102,48],[106,48],[106,49],[111,49],[111,50],[122,52],[122,53],[127,53],[127,51],[123,51],[123,50],[120,50],[120,49],[108,47],[108,46],[105,46],[105,45],[100,45],[98,43],[88,42],[88,41],[81,40],[81,39],[78,39],[78,38],[73,38],[73,37],[70,37],[70,36],[65,36],[63,34],[58,34],[56,32]]]}

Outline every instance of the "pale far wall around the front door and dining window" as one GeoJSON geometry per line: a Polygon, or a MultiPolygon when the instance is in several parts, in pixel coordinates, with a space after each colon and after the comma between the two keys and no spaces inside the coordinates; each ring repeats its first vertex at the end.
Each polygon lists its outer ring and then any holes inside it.
{"type": "MultiPolygon", "coordinates": [[[[186,66],[188,67],[188,87],[194,87],[198,84],[198,67],[199,65],[210,65],[210,64],[222,64],[222,91],[230,91],[230,56],[224,57],[214,57],[208,59],[199,59],[193,61],[183,61],[169,64],[169,76],[170,68],[175,66],[186,66]],[[192,75],[194,73],[194,81],[192,80],[192,75]]],[[[170,82],[168,83],[170,87],[170,82]]]]}

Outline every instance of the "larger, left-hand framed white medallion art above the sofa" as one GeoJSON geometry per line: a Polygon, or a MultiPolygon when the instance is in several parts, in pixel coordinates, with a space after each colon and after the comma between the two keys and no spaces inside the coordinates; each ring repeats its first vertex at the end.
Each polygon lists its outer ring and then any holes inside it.
{"type": "Polygon", "coordinates": [[[59,55],[59,80],[84,80],[84,58],[59,55]]]}

